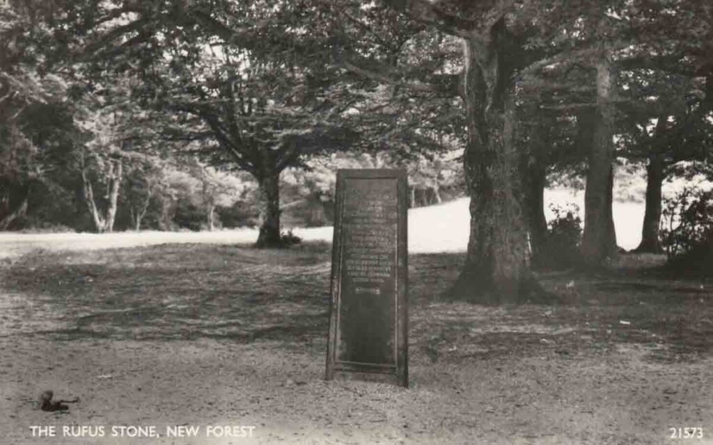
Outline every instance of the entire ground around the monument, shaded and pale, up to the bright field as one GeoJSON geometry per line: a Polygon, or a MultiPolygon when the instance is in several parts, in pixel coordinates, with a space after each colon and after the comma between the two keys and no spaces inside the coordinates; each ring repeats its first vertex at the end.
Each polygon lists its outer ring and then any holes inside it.
{"type": "Polygon", "coordinates": [[[0,243],[1,444],[713,444],[713,281],[647,268],[660,258],[540,276],[562,304],[487,307],[439,298],[461,253],[412,255],[401,389],[323,380],[328,244],[66,246],[0,243]],[[81,402],[42,412],[43,389],[81,402]],[[198,436],[165,436],[181,424],[198,436]]]}

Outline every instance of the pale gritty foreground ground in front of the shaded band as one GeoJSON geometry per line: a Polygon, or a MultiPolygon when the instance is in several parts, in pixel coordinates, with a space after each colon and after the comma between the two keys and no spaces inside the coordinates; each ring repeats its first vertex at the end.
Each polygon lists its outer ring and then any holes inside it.
{"type": "Polygon", "coordinates": [[[669,427],[702,426],[713,444],[710,360],[645,362],[635,349],[432,364],[416,353],[411,388],[324,382],[323,345],[270,342],[51,342],[0,338],[0,417],[9,444],[665,444],[669,427]],[[81,397],[68,414],[34,409],[37,387],[81,397]],[[101,439],[39,439],[30,425],[104,426],[101,439]],[[200,426],[192,439],[165,426],[200,426]],[[208,425],[255,426],[252,439],[208,425]],[[153,439],[111,425],[156,426],[153,439]]]}

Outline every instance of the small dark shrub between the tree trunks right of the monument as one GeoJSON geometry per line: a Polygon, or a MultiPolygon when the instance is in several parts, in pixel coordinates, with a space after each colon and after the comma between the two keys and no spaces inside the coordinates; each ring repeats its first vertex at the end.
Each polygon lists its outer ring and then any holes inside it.
{"type": "Polygon", "coordinates": [[[575,204],[550,204],[550,210],[555,218],[547,225],[547,241],[540,258],[537,258],[538,265],[554,269],[569,268],[579,261],[582,239],[580,210],[575,204]]]}

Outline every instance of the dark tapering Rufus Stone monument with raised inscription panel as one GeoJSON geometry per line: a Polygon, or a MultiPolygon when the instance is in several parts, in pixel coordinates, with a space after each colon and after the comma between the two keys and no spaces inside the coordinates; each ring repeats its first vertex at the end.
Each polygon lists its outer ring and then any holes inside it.
{"type": "Polygon", "coordinates": [[[407,384],[405,193],[404,172],[337,174],[328,379],[407,384]]]}

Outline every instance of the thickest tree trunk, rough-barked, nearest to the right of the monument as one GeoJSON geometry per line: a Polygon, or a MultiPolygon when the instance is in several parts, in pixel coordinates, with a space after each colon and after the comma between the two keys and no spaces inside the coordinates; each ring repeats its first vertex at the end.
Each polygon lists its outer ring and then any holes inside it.
{"type": "MultiPolygon", "coordinates": [[[[498,32],[497,25],[495,29],[498,32]]],[[[504,32],[504,23],[501,29],[504,32]]],[[[520,303],[540,296],[541,289],[530,273],[527,231],[516,193],[514,85],[500,59],[506,54],[481,43],[465,44],[468,144],[463,164],[471,195],[471,233],[466,263],[451,295],[473,303],[520,303]]]]}

